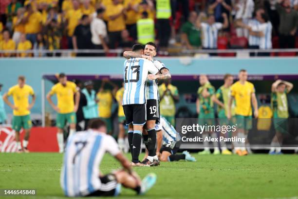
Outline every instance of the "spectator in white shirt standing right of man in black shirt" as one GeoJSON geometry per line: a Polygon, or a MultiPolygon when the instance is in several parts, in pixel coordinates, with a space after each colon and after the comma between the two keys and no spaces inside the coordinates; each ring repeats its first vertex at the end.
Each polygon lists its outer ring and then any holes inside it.
{"type": "MultiPolygon", "coordinates": [[[[103,8],[97,9],[96,17],[91,22],[91,33],[92,33],[92,43],[94,49],[104,49],[105,53],[109,52],[109,47],[107,44],[107,26],[103,21],[103,14],[105,10],[103,8]]],[[[99,53],[97,56],[105,56],[104,53],[99,53]]]]}

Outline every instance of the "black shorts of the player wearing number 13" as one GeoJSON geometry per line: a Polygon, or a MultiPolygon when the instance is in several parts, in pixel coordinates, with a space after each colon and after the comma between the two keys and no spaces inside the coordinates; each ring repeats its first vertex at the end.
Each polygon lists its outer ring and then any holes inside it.
{"type": "Polygon", "coordinates": [[[126,124],[143,125],[146,123],[146,104],[123,105],[126,124]]]}

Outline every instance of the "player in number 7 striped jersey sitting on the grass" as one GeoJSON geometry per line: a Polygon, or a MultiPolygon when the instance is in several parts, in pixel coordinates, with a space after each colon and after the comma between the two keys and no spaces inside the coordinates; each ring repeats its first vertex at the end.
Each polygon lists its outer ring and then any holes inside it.
{"type": "Polygon", "coordinates": [[[67,141],[60,176],[64,194],[69,197],[117,196],[121,184],[139,195],[145,194],[155,184],[156,175],[149,174],[141,181],[116,141],[106,134],[104,121],[93,119],[89,124],[89,130],[77,132],[67,141]],[[100,173],[99,165],[106,151],[122,164],[122,170],[107,175],[100,173]]]}

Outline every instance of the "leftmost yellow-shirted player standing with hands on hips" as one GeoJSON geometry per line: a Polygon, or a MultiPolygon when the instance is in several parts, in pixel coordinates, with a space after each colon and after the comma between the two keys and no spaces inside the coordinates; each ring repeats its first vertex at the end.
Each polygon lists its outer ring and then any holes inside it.
{"type": "Polygon", "coordinates": [[[23,149],[25,152],[29,152],[27,146],[30,137],[30,129],[32,127],[30,110],[34,106],[36,99],[33,88],[25,83],[25,77],[19,76],[18,84],[11,87],[8,90],[8,93],[5,93],[3,96],[3,100],[14,110],[12,128],[16,131],[18,152],[22,151],[22,147],[19,140],[19,131],[21,130],[21,128],[25,130],[25,136],[22,141],[23,149]],[[8,100],[9,96],[13,97],[14,104],[12,104],[8,100]],[[32,96],[31,103],[29,103],[30,96],[32,96]]]}

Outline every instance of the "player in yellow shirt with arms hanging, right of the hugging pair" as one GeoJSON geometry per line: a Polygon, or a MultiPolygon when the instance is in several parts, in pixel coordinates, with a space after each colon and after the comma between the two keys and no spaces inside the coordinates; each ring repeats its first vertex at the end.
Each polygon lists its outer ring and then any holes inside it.
{"type": "MultiPolygon", "coordinates": [[[[248,145],[247,134],[252,128],[252,107],[254,107],[254,116],[258,118],[258,102],[255,94],[255,87],[251,82],[247,81],[247,71],[241,69],[239,72],[239,80],[231,86],[231,97],[228,103],[227,118],[231,119],[232,102],[235,100],[235,117],[237,124],[238,138],[246,139],[246,148],[250,150],[248,145]]],[[[235,153],[244,156],[247,155],[245,143],[233,142],[235,153]]]]}

